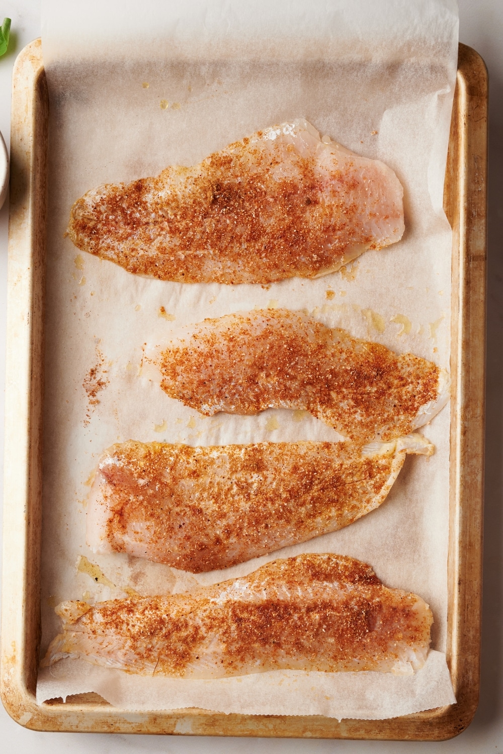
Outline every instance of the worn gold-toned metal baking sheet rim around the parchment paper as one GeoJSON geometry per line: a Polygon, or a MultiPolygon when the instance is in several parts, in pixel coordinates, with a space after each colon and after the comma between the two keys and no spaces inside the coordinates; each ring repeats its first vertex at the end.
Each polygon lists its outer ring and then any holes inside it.
{"type": "Polygon", "coordinates": [[[389,720],[342,722],[208,710],[124,713],[97,694],[38,705],[48,93],[40,41],[22,51],[14,69],[11,133],[2,613],[2,699],[14,719],[48,731],[406,740],[440,740],[468,725],[477,706],[480,656],[486,102],[483,61],[460,45],[444,195],[454,230],[447,658],[458,703],[389,720]]]}

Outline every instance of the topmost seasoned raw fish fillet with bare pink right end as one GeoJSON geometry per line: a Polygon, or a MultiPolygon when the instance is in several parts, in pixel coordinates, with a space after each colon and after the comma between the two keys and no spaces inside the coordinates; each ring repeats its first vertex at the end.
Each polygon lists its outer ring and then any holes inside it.
{"type": "Polygon", "coordinates": [[[327,274],[400,241],[402,198],[389,167],[298,119],[195,167],[93,189],[73,205],[68,233],[136,274],[263,284],[327,274]]]}

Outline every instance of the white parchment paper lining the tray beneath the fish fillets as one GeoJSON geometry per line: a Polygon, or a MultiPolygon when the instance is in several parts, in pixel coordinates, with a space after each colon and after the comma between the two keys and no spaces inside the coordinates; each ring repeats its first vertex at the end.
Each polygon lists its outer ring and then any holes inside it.
{"type": "Polygon", "coordinates": [[[126,596],[131,588],[142,595],[182,592],[301,552],[357,557],[388,586],[420,594],[434,613],[434,651],[407,678],[278,672],[201,682],[62,661],[39,674],[38,700],[98,691],[130,710],[201,706],[370,719],[452,703],[443,654],[448,406],[423,430],[436,454],[408,458],[379,510],[223,572],[195,578],[129,556],[94,555],[85,544],[85,498],[103,450],[124,440],[337,440],[303,412],[207,418],[168,398],[142,375],[142,349],[166,341],[180,325],[256,306],[308,308],[327,325],[449,367],[452,238],[442,194],[457,57],[455,2],[152,0],[104,8],[87,2],[86,17],[72,6],[44,3],[42,38],[51,94],[42,655],[60,630],[54,605],[63,599],[93,602],[126,596]],[[138,8],[143,15],[133,29],[138,8]],[[399,244],[317,280],[230,287],[134,277],[63,238],[72,203],[95,185],[194,164],[259,128],[299,116],[321,135],[395,170],[405,191],[399,244]]]}

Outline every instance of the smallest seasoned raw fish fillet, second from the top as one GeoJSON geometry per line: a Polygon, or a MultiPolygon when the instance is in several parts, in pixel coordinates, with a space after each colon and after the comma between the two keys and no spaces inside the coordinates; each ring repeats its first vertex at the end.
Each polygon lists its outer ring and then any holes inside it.
{"type": "Polygon", "coordinates": [[[204,320],[155,363],[161,388],[205,415],[305,409],[360,443],[409,434],[449,397],[448,376],[431,361],[287,309],[204,320]]]}

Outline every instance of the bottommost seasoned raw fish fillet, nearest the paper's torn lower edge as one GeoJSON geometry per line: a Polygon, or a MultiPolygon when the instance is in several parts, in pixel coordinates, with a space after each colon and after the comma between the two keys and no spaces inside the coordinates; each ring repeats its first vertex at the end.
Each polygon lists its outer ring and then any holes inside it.
{"type": "Polygon", "coordinates": [[[63,634],[43,665],[78,657],[149,676],[219,678],[265,670],[413,673],[425,663],[428,605],[341,555],[275,560],[189,594],[56,608],[63,634]]]}

